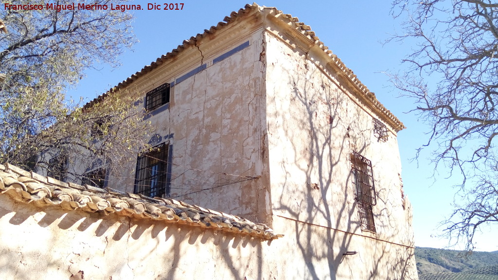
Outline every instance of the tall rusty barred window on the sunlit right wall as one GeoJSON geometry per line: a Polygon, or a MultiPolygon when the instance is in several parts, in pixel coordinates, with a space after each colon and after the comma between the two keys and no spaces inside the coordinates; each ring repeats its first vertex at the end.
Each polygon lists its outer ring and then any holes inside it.
{"type": "Polygon", "coordinates": [[[362,230],[375,232],[372,206],[377,203],[373,184],[372,162],[353,151],[351,153],[351,172],[355,183],[355,195],[362,230]]]}

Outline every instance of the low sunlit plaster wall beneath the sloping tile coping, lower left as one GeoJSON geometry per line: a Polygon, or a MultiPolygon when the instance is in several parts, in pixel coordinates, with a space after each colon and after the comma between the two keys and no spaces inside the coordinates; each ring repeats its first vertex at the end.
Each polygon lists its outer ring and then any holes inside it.
{"type": "Polygon", "coordinates": [[[0,195],[0,279],[282,279],[277,240],[0,195]]]}

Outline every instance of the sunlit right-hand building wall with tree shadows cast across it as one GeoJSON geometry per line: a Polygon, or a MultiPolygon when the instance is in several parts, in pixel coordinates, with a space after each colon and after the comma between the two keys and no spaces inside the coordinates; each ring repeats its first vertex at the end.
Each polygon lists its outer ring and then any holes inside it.
{"type": "Polygon", "coordinates": [[[286,279],[417,279],[396,132],[373,135],[369,106],[318,46],[267,19],[266,118],[273,229],[294,248],[286,279]],[[376,233],[362,231],[350,153],[372,160],[376,233]],[[358,252],[345,256],[346,251],[358,252]]]}

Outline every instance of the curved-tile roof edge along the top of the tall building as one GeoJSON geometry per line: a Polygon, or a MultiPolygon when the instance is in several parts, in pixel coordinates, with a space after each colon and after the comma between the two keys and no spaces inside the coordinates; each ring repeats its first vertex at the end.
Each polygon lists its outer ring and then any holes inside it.
{"type": "Polygon", "coordinates": [[[124,87],[130,85],[139,77],[145,75],[146,73],[157,68],[159,65],[163,64],[166,60],[172,59],[174,56],[177,56],[179,53],[181,53],[184,49],[188,48],[190,45],[196,45],[197,41],[204,39],[204,37],[207,37],[209,34],[216,33],[220,29],[226,28],[226,26],[234,22],[237,19],[237,17],[249,13],[254,9],[258,9],[261,12],[267,12],[269,14],[272,14],[274,17],[279,18],[280,20],[286,21],[287,24],[290,24],[293,28],[298,30],[298,32],[300,32],[303,36],[311,40],[315,45],[317,45],[330,57],[332,63],[336,65],[337,69],[342,73],[344,77],[346,77],[347,79],[349,79],[349,81],[351,81],[351,83],[353,83],[353,85],[363,95],[365,100],[369,102],[376,109],[376,111],[378,111],[379,114],[384,115],[387,118],[387,120],[389,120],[390,125],[393,127],[393,129],[396,132],[406,128],[403,125],[403,123],[396,116],[394,116],[394,114],[391,113],[391,111],[387,110],[384,107],[384,105],[382,105],[382,103],[380,103],[377,100],[375,94],[371,92],[367,88],[367,86],[365,86],[362,82],[360,82],[360,80],[353,73],[353,71],[348,67],[346,67],[346,65],[341,61],[341,59],[339,59],[337,55],[333,54],[332,51],[329,50],[329,48],[322,41],[320,41],[318,36],[316,36],[315,32],[311,30],[311,27],[309,25],[306,25],[303,22],[299,22],[299,19],[297,17],[293,17],[291,14],[285,14],[281,10],[278,10],[275,7],[259,6],[256,3],[246,4],[244,8],[241,8],[239,11],[237,12],[233,11],[232,13],[230,13],[230,16],[226,16],[223,19],[224,21],[218,22],[216,26],[211,26],[211,28],[205,29],[203,33],[199,33],[195,37],[192,36],[190,37],[190,39],[184,40],[181,45],[178,45],[178,47],[173,49],[171,52],[168,52],[165,55],[161,55],[161,57],[151,62],[150,65],[144,66],[142,70],[131,75],[126,80],[124,80],[123,82],[119,83],[117,86],[110,89],[107,93],[104,93],[103,95],[100,95],[94,100],[88,102],[87,104],[85,104],[84,107],[90,107],[93,104],[102,101],[110,92],[123,89],[124,87]]]}

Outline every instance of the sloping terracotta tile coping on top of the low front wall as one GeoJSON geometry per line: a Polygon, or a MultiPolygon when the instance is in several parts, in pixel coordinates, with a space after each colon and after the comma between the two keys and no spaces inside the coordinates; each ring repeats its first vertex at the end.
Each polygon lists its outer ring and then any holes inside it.
{"type": "Polygon", "coordinates": [[[132,216],[213,228],[225,232],[247,234],[260,239],[277,239],[268,226],[244,218],[190,205],[183,201],[149,198],[114,189],[65,183],[17,166],[0,164],[0,194],[16,201],[34,203],[39,207],[59,205],[64,209],[99,212],[105,215],[132,216]]]}

